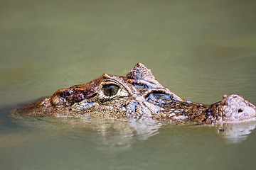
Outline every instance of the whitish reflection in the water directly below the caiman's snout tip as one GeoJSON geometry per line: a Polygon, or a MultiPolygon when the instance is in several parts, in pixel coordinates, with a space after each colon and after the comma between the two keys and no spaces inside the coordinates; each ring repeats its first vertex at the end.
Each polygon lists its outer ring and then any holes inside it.
{"type": "Polygon", "coordinates": [[[240,143],[247,139],[248,135],[256,128],[256,121],[244,123],[223,123],[218,134],[223,135],[228,143],[240,143]]]}

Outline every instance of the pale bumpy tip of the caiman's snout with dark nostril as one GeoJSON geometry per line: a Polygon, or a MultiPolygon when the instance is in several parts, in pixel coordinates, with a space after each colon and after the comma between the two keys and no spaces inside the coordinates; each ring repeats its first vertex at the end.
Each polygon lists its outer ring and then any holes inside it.
{"type": "Polygon", "coordinates": [[[223,96],[223,101],[220,101],[218,106],[218,113],[222,114],[225,123],[256,120],[256,107],[242,96],[235,94],[223,96]]]}

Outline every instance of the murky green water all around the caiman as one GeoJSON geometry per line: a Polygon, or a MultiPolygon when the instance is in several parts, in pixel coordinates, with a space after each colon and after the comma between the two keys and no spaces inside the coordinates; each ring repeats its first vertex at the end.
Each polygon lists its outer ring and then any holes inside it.
{"type": "Polygon", "coordinates": [[[182,98],[256,104],[255,1],[1,1],[0,169],[253,169],[256,123],[24,118],[9,111],[142,62],[182,98]],[[222,129],[225,131],[222,132],[222,129]]]}

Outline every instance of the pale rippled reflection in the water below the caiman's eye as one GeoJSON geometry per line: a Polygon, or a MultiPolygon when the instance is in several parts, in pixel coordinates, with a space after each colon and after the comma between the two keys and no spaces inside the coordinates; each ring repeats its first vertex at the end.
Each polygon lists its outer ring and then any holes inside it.
{"type": "Polygon", "coordinates": [[[158,134],[161,123],[155,120],[104,120],[102,118],[60,118],[65,125],[72,125],[73,130],[68,132],[69,137],[81,139],[87,137],[81,134],[84,130],[93,130],[98,134],[97,149],[109,149],[111,152],[120,152],[132,147],[134,141],[147,140],[149,137],[158,134]],[[80,130],[79,130],[80,129],[80,130]],[[107,146],[107,147],[106,147],[107,146]],[[114,149],[114,150],[113,150],[114,149]],[[121,150],[120,150],[121,149],[121,150]]]}

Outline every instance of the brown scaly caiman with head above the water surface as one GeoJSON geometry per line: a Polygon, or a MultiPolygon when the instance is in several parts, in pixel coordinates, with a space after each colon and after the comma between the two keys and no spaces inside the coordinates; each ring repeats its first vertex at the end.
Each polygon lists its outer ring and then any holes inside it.
{"type": "Polygon", "coordinates": [[[223,96],[206,105],[180,98],[138,63],[126,77],[103,74],[87,84],[60,89],[48,98],[12,111],[29,116],[90,116],[168,123],[240,123],[255,120],[256,107],[242,96],[223,96]]]}

